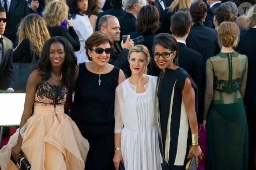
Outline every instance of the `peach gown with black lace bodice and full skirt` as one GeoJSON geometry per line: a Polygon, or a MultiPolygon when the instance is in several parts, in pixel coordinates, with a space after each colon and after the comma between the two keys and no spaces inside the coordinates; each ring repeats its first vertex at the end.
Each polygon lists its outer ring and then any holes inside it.
{"type": "MultiPolygon", "coordinates": [[[[84,170],[89,143],[72,119],[64,114],[66,85],[46,81],[36,88],[34,113],[20,129],[22,150],[31,170],[84,170]]],[[[0,150],[2,170],[17,170],[11,161],[11,148],[17,144],[19,129],[0,150]]]]}

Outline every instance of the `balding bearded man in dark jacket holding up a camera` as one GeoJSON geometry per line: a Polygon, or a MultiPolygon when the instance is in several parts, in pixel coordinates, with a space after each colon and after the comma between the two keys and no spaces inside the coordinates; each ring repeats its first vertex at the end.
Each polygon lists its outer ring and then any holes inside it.
{"type": "Polygon", "coordinates": [[[117,42],[120,41],[120,25],[117,17],[112,15],[104,15],[98,24],[98,30],[102,33],[109,35],[114,40],[114,50],[110,54],[109,64],[119,67],[123,70],[126,78],[130,76],[130,68],[128,67],[128,53],[133,46],[133,42],[130,37],[127,38],[125,43],[121,43],[120,48],[117,42]]]}

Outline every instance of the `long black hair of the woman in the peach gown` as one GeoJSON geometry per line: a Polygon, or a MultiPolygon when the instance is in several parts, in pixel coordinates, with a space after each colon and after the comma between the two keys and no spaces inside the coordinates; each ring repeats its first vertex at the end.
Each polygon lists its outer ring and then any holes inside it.
{"type": "Polygon", "coordinates": [[[32,70],[38,69],[39,74],[46,81],[51,77],[51,62],[49,60],[50,46],[53,43],[60,43],[64,46],[65,60],[62,66],[63,82],[69,89],[75,89],[75,73],[77,71],[77,58],[70,42],[61,36],[51,37],[42,48],[41,58],[38,60],[32,70]]]}

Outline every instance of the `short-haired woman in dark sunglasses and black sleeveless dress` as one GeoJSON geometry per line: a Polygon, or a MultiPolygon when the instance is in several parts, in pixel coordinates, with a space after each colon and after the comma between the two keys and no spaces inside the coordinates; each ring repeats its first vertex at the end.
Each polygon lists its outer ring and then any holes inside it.
{"type": "Polygon", "coordinates": [[[108,64],[114,48],[110,37],[94,32],[85,48],[89,62],[79,64],[70,117],[90,144],[85,169],[114,170],[115,89],[125,77],[122,70],[108,64]]]}

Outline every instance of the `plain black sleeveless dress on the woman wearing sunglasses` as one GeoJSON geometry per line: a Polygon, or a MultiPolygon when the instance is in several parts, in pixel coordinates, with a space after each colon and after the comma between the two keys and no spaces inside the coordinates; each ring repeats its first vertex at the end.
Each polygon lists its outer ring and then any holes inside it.
{"type": "Polygon", "coordinates": [[[90,144],[86,170],[115,170],[114,157],[114,100],[120,69],[114,67],[99,75],[79,64],[75,98],[70,111],[83,137],[90,144]]]}

